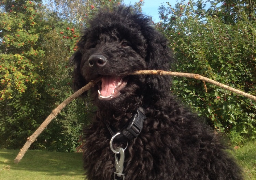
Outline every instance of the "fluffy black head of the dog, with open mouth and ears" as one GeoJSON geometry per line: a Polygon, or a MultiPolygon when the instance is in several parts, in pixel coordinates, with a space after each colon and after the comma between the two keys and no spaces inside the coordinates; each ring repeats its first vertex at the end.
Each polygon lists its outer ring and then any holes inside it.
{"type": "Polygon", "coordinates": [[[75,90],[101,78],[92,90],[98,102],[167,95],[170,77],[128,75],[136,70],[170,70],[172,53],[151,18],[117,6],[111,12],[100,10],[88,25],[77,43],[79,50],[71,57],[75,90]]]}

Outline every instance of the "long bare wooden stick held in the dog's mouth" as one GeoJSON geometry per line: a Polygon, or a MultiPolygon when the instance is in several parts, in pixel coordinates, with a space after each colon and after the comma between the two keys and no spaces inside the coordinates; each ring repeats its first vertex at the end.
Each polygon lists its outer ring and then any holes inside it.
{"type": "MultiPolygon", "coordinates": [[[[193,73],[183,73],[183,72],[171,72],[171,71],[163,71],[163,70],[140,70],[140,71],[135,71],[131,73],[130,75],[169,75],[169,76],[178,76],[178,77],[187,77],[187,78],[193,78],[197,80],[201,80],[204,82],[208,82],[211,84],[214,84],[216,86],[222,87],[226,90],[232,91],[234,93],[237,93],[239,95],[245,96],[249,99],[252,99],[256,101],[256,97],[247,93],[244,93],[242,91],[239,91],[238,89],[229,87],[227,85],[224,85],[222,83],[219,83],[217,81],[211,80],[209,78],[205,78],[201,75],[198,74],[193,74],[193,73]]],[[[31,135],[28,137],[27,142],[23,146],[22,149],[20,149],[20,152],[18,153],[17,157],[14,160],[14,163],[19,163],[19,161],[23,158],[24,154],[30,147],[30,145],[36,140],[36,138],[43,132],[43,130],[46,128],[46,126],[52,121],[54,117],[56,117],[59,112],[66,107],[68,103],[73,101],[75,98],[79,97],[81,94],[83,94],[85,91],[93,87],[99,80],[91,81],[90,83],[86,84],[84,87],[79,89],[77,92],[72,94],[70,97],[68,97],[65,101],[63,101],[56,109],[52,111],[52,113],[44,120],[44,122],[39,126],[39,128],[31,135]]]]}

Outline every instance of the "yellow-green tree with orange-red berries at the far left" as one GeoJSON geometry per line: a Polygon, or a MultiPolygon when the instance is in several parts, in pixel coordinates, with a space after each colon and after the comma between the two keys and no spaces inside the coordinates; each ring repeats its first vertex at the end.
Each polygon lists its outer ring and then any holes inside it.
{"type": "MultiPolygon", "coordinates": [[[[4,1],[3,1],[4,2],[4,1]]],[[[9,2],[6,2],[9,3],[9,2]]],[[[8,4],[9,5],[9,4],[8,4]]],[[[42,32],[49,29],[40,21],[41,15],[36,10],[41,4],[27,1],[24,6],[14,4],[9,12],[1,12],[1,98],[8,100],[13,94],[23,93],[31,84],[41,83],[36,72],[38,59],[44,56],[38,44],[42,32]],[[16,10],[20,10],[16,12],[16,10]],[[35,28],[39,27],[39,28],[35,28]]],[[[36,92],[34,92],[36,93],[36,92]]]]}

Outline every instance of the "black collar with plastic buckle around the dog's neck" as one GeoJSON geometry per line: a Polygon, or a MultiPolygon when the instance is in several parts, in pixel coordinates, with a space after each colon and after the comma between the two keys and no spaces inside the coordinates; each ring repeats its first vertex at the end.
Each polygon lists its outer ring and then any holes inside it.
{"type": "MultiPolygon", "coordinates": [[[[146,111],[141,106],[137,109],[137,113],[127,122],[127,126],[120,130],[120,134],[115,137],[120,142],[128,142],[133,138],[138,137],[143,128],[143,122],[146,118],[146,111]]],[[[109,125],[106,124],[110,134],[114,136],[117,132],[114,132],[109,125]]]]}

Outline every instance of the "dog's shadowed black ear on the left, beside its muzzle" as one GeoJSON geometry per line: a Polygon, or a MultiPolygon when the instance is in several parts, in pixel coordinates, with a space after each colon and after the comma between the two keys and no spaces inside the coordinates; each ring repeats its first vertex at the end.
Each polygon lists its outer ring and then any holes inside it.
{"type": "MultiPolygon", "coordinates": [[[[70,57],[70,63],[73,65],[74,71],[72,76],[72,88],[74,91],[79,90],[83,86],[85,86],[88,82],[84,79],[84,77],[81,74],[81,60],[82,60],[82,53],[77,50],[71,57],[70,57]]],[[[83,93],[83,95],[86,95],[87,93],[83,93]]]]}

